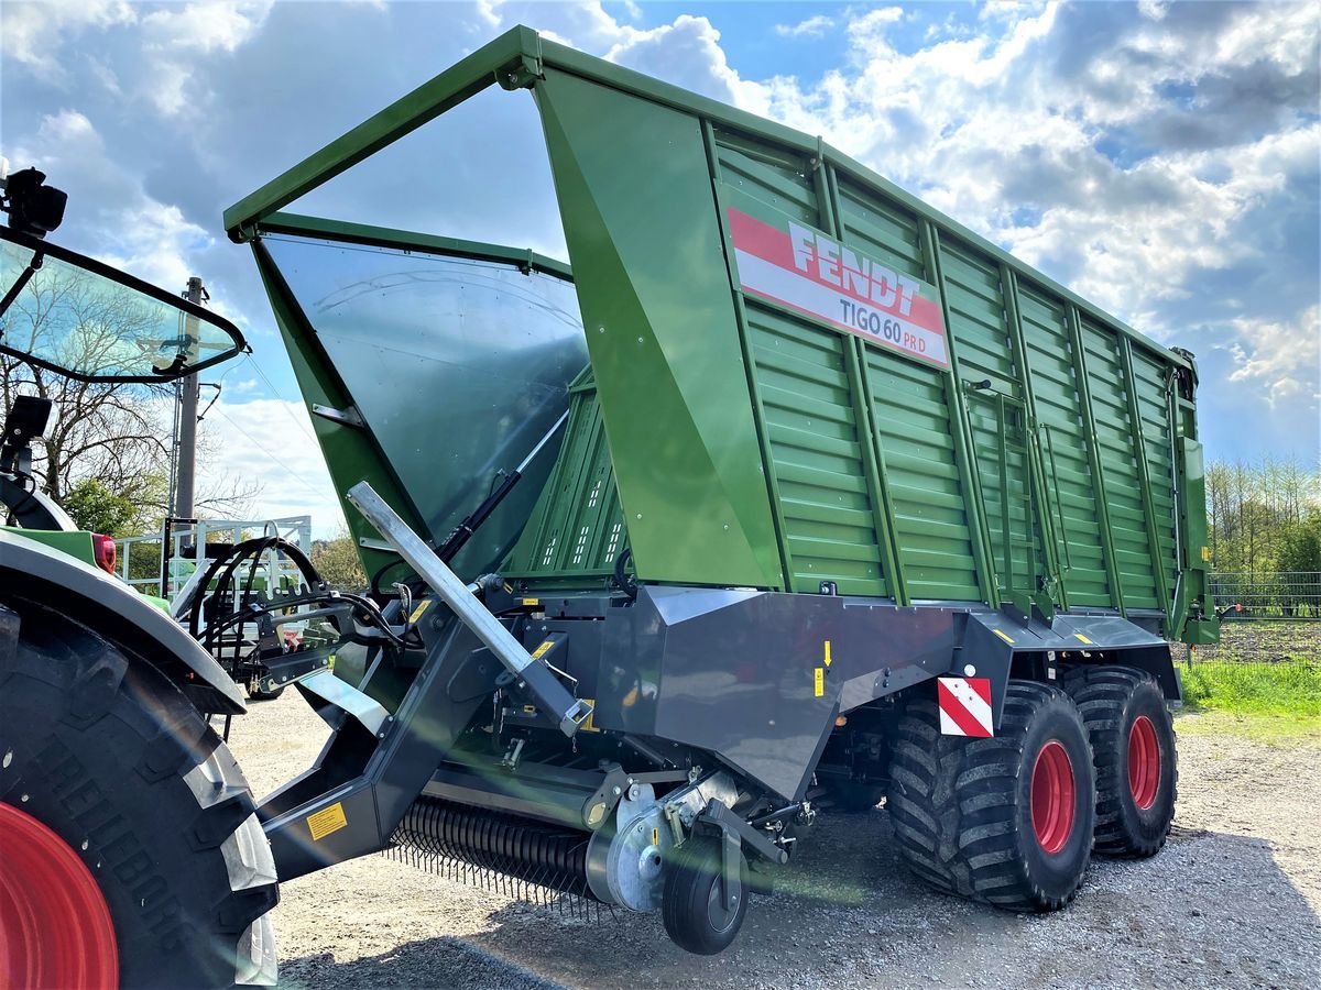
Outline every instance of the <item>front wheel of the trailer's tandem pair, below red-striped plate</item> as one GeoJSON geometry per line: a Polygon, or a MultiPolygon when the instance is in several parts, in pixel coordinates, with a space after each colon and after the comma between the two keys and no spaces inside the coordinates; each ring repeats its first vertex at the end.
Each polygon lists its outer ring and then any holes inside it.
{"type": "Polygon", "coordinates": [[[999,734],[942,735],[910,704],[886,808],[900,854],[931,887],[1007,911],[1055,911],[1082,886],[1095,784],[1082,715],[1058,688],[1009,681],[999,734]]]}

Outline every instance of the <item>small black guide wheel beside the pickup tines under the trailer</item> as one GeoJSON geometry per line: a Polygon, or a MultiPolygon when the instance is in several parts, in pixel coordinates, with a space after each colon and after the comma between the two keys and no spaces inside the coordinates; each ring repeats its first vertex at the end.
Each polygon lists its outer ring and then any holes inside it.
{"type": "MultiPolygon", "coordinates": [[[[744,873],[741,855],[738,866],[744,873]]],[[[697,956],[715,956],[728,949],[748,913],[746,884],[742,884],[738,903],[732,909],[725,907],[720,870],[720,845],[690,838],[676,850],[664,878],[660,915],[666,933],[680,949],[697,956]]]]}

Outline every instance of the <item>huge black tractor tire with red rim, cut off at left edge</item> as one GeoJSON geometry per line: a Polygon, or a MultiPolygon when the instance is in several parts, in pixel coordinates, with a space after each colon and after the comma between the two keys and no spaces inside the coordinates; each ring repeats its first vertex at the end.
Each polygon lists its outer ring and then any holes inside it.
{"type": "Polygon", "coordinates": [[[273,985],[279,894],[252,793],[156,668],[29,611],[0,642],[0,803],[17,986],[82,986],[89,966],[129,987],[273,985]]]}

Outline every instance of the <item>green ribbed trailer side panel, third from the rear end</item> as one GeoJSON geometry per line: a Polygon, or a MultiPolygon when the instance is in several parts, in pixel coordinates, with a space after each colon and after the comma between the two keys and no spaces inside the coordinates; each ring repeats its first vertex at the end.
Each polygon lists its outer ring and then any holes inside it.
{"type": "Polygon", "coordinates": [[[1065,590],[1071,605],[1106,607],[1112,605],[1112,597],[1065,308],[1020,285],[1018,309],[1032,370],[1052,517],[1063,558],[1065,590]]]}

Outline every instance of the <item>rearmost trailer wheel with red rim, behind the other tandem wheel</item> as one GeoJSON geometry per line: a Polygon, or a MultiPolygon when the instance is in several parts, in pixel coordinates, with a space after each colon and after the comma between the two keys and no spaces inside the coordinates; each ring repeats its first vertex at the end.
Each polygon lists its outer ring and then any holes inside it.
{"type": "Polygon", "coordinates": [[[1082,667],[1065,690],[1082,711],[1096,770],[1095,850],[1156,855],[1178,797],[1174,721],[1156,680],[1132,667],[1082,667]]]}

